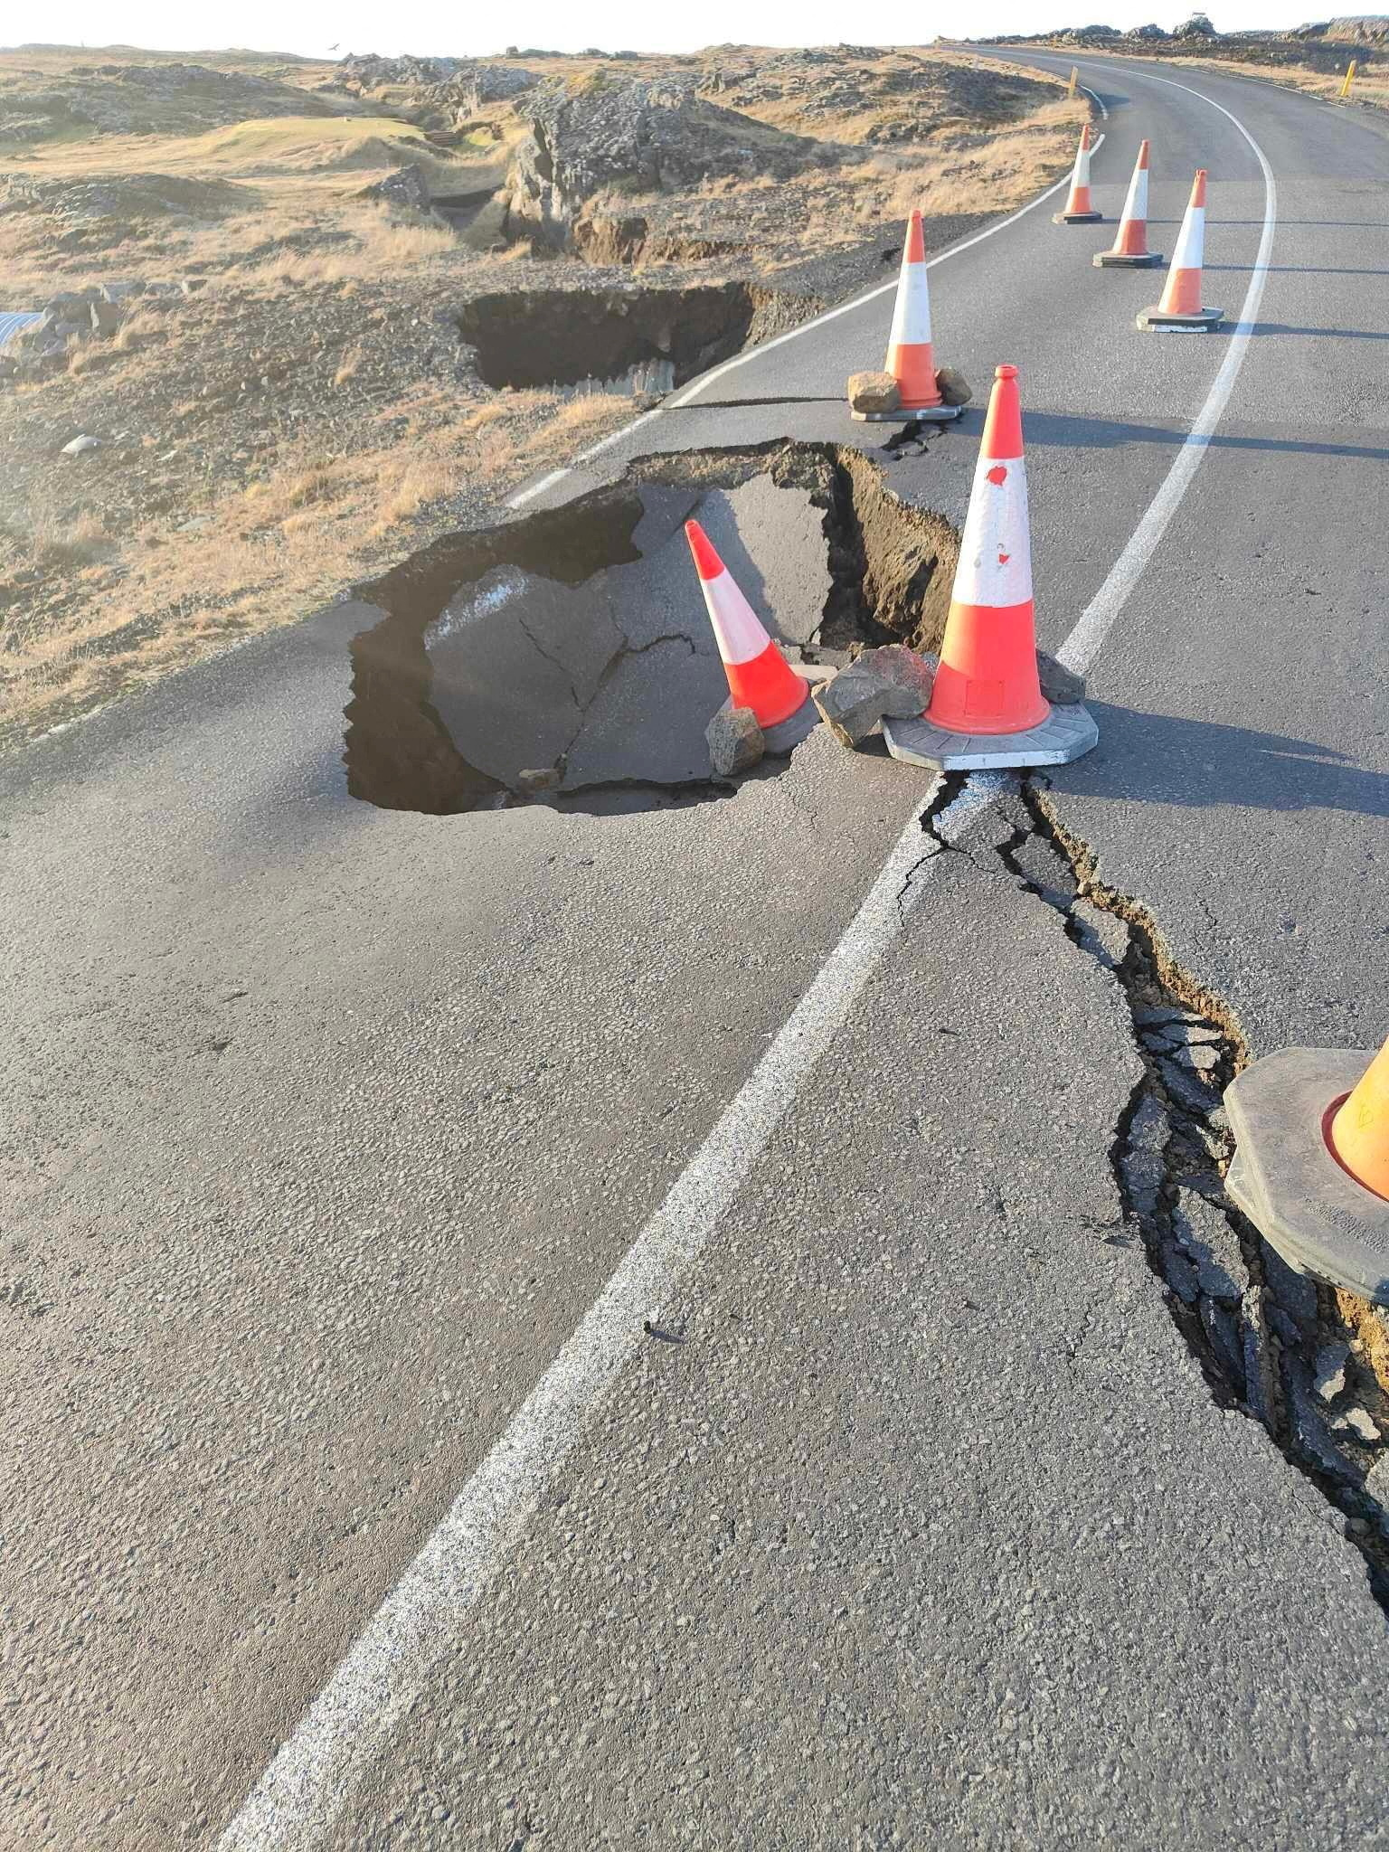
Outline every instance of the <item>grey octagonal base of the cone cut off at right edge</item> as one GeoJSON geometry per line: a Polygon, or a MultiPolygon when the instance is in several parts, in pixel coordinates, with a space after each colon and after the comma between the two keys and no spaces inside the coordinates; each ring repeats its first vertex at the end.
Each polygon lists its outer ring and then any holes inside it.
{"type": "Polygon", "coordinates": [[[1226,1087],[1235,1161],[1226,1189],[1296,1272],[1389,1306],[1389,1202],[1343,1170],[1322,1137],[1326,1107],[1372,1056],[1280,1048],[1226,1087]]]}

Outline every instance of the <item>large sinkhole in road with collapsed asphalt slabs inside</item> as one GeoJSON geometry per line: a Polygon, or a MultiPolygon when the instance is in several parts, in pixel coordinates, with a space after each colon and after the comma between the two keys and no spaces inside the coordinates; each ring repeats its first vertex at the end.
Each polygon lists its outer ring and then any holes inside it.
{"type": "Polygon", "coordinates": [[[939,646],[956,533],[859,452],[643,457],[613,487],[443,535],[357,587],[382,615],[352,641],[352,796],[428,815],[533,802],[615,815],[730,795],[704,737],[728,687],[691,517],[793,661],[939,646]]]}

